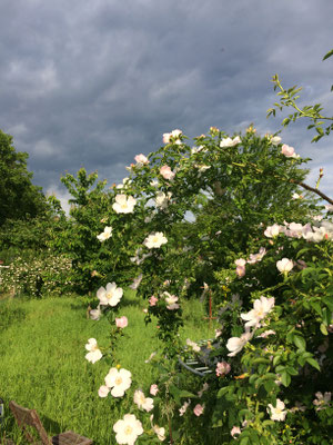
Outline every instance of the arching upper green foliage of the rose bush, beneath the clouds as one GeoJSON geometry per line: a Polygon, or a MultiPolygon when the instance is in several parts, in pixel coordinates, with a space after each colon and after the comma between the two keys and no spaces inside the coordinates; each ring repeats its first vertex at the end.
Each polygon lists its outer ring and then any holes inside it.
{"type": "MultiPolygon", "coordinates": [[[[222,139],[223,134],[213,129],[196,139],[199,152],[184,141],[170,144],[151,154],[149,165],[131,167],[131,179],[121,191],[137,199],[134,211],[118,214],[109,207],[103,214],[104,224],[113,231],[101,250],[108,249],[110,263],[122,266],[120,274],[111,270],[105,280],[128,286],[143,274],[139,294],[145,298],[161,291],[173,294],[180,285],[190,285],[189,294],[201,294],[203,281],[213,286],[213,271],[233,265],[236,253],[260,247],[255,241],[262,233],[260,225],[282,222],[292,215],[304,219],[313,211],[313,200],[305,195],[292,199],[299,187],[289,180],[304,179],[306,170],[300,165],[306,160],[287,159],[271,144],[272,137],[260,138],[254,131],[228,149],[220,147],[222,139]],[[172,181],[160,174],[164,165],[176,171],[172,181]],[[210,167],[203,171],[205,166],[210,167]],[[153,180],[158,180],[158,188],[152,186],[153,180]],[[188,210],[195,216],[192,222],[184,220],[188,210]],[[160,249],[142,245],[149,234],[160,231],[172,243],[160,249]],[[133,267],[129,276],[123,265],[129,267],[130,261],[133,267]]],[[[113,201],[117,195],[115,188],[113,201]]]]}

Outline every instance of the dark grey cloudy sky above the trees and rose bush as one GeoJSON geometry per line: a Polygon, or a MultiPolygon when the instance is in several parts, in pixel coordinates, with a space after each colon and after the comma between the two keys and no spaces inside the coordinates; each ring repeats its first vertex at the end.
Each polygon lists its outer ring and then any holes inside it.
{"type": "MultiPolygon", "coordinates": [[[[333,116],[332,0],[1,0],[0,128],[29,154],[33,184],[69,198],[60,182],[81,167],[120,182],[138,154],[175,128],[193,138],[230,135],[266,119],[272,76],[303,87],[300,106],[333,116]]],[[[306,182],[333,196],[333,134],[300,120],[280,135],[310,157],[306,182]]]]}

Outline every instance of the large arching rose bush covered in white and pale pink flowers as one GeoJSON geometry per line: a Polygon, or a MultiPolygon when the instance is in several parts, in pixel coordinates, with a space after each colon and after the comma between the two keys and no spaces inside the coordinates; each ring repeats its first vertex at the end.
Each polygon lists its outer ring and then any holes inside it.
{"type": "MultiPolygon", "coordinates": [[[[329,444],[333,224],[329,212],[320,221],[324,208],[306,191],[293,198],[306,159],[252,127],[232,138],[211,128],[194,147],[180,130],[163,141],[148,158],[137,157],[121,194],[113,187],[100,215],[105,226],[95,234],[113,265],[103,270],[112,284],[98,290],[111,342],[98,350],[117,365],[123,333],[114,322],[125,286],[148,300],[147,323],[158,318],[165,345],[151,360],[160,373],[154,398],[144,388],[122,392],[134,397],[135,415],[114,425],[115,441],[329,444]],[[213,296],[220,329],[208,348],[189,339],[184,349],[182,299],[202,288],[213,296]],[[206,386],[178,368],[178,356],[188,354],[209,358],[206,386]]],[[[117,369],[110,369],[114,382],[117,369]]],[[[107,383],[100,396],[114,385],[107,383]]]]}

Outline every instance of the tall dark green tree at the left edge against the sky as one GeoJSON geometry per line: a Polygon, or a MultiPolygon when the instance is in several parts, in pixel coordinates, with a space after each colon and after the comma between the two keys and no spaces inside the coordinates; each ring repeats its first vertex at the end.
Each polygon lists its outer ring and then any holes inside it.
{"type": "Polygon", "coordinates": [[[27,219],[44,214],[42,189],[31,182],[28,154],[16,151],[12,137],[0,130],[0,227],[7,219],[27,219]]]}

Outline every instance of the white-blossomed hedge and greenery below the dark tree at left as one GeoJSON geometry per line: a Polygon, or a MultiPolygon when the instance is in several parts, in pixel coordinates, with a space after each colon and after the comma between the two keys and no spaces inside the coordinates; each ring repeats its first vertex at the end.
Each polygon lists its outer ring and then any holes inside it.
{"type": "Polygon", "coordinates": [[[64,212],[54,197],[48,198],[44,214],[6,220],[0,227],[0,258],[8,268],[0,276],[1,291],[42,297],[70,289],[71,260],[48,248],[64,224],[64,212]]]}

